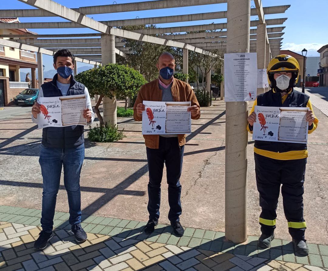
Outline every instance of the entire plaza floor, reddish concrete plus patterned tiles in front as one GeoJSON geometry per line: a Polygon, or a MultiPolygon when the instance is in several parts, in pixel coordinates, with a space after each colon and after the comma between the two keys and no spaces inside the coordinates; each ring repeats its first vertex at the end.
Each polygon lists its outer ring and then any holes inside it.
{"type": "Polygon", "coordinates": [[[170,234],[171,227],[167,226],[169,206],[165,171],[161,225],[152,236],[140,234],[148,220],[148,168],[141,122],[129,117],[118,118],[119,130],[124,129],[126,138],[113,143],[86,141],[81,194],[83,226],[90,233],[89,241],[82,245],[72,241],[67,226],[67,194],[61,180],[55,217],[57,237],[44,253],[33,254],[31,245],[39,231],[42,199],[42,176],[38,164],[42,131],[31,122],[30,107],[9,107],[0,111],[0,268],[25,268],[26,271],[58,270],[67,266],[71,270],[138,270],[147,266],[151,268],[149,270],[234,271],[253,268],[315,271],[328,268],[328,112],[325,111],[328,101],[324,89],[308,91],[319,119],[317,131],[309,136],[304,193],[310,256],[294,255],[281,200],[277,210],[277,240],[268,250],[258,250],[256,246],[256,236],[260,234],[260,208],[251,135],[247,188],[249,239],[246,244],[238,246],[223,242],[223,101],[214,101],[212,107],[202,108],[201,118],[192,122],[193,133],[187,137],[181,176],[181,223],[188,228],[184,237],[174,237],[170,234]],[[19,257],[25,258],[17,262],[15,259],[19,257]]]}

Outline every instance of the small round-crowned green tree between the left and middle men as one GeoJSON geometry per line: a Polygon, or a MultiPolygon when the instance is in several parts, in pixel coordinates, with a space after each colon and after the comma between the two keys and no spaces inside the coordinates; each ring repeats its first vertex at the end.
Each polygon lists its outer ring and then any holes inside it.
{"type": "Polygon", "coordinates": [[[140,87],[147,83],[135,69],[113,63],[81,72],[75,79],[88,88],[90,97],[99,95],[94,110],[101,125],[104,125],[104,120],[99,112],[99,105],[103,97],[125,99],[127,108],[127,97],[135,97],[140,87]]]}

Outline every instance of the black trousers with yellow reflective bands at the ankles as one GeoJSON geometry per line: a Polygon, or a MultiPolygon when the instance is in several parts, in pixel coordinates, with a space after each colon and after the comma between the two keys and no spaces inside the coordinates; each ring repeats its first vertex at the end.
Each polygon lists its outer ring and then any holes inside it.
{"type": "Polygon", "coordinates": [[[276,228],[277,204],[281,186],[282,202],[289,233],[303,240],[306,224],[303,218],[303,193],[306,158],[276,160],[259,154],[255,157],[257,190],[260,194],[261,232],[271,235],[276,228]]]}

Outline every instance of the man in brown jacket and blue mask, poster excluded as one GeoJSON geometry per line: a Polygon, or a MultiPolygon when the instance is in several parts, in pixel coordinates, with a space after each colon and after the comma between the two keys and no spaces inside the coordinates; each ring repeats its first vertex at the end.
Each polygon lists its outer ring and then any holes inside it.
{"type": "MultiPolygon", "coordinates": [[[[175,69],[174,57],[163,53],[156,64],[159,71],[158,79],[143,85],[134,103],[133,117],[136,121],[142,120],[142,111],[145,110],[145,101],[191,101],[188,111],[192,119],[200,117],[200,108],[194,91],[190,85],[173,77],[175,69]]],[[[184,229],[179,222],[181,215],[181,184],[182,160],[186,135],[144,135],[149,170],[148,183],[148,212],[149,221],[144,228],[146,234],[154,231],[158,224],[161,198],[161,181],[164,162],[166,177],[169,185],[169,220],[174,233],[182,236],[184,229]]]]}

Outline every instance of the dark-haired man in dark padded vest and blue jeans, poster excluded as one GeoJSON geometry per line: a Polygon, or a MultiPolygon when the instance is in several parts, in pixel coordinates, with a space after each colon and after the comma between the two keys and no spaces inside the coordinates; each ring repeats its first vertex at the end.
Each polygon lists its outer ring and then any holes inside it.
{"type": "MultiPolygon", "coordinates": [[[[51,82],[41,85],[39,97],[59,97],[85,94],[87,109],[83,117],[87,124],[94,120],[88,89],[74,80],[74,56],[67,49],[61,49],[53,56],[53,66],[57,73],[51,82]]],[[[40,105],[36,102],[32,107],[32,120],[37,123],[40,117],[40,105]]],[[[68,195],[70,208],[69,223],[76,242],[87,240],[87,234],[81,227],[81,193],[80,172],[84,159],[84,126],[47,127],[42,130],[42,143],[39,163],[43,177],[42,214],[39,238],[34,249],[43,249],[52,238],[53,217],[62,167],[64,167],[64,186],[68,195]]]]}

